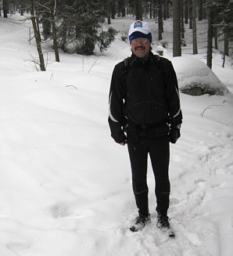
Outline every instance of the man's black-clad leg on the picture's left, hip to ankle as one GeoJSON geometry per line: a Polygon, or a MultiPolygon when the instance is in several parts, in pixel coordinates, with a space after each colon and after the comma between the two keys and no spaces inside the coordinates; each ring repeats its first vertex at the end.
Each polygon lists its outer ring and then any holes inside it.
{"type": "Polygon", "coordinates": [[[128,152],[131,160],[132,183],[134,197],[138,207],[139,215],[149,215],[148,186],[146,182],[148,150],[141,141],[127,142],[128,152]]]}

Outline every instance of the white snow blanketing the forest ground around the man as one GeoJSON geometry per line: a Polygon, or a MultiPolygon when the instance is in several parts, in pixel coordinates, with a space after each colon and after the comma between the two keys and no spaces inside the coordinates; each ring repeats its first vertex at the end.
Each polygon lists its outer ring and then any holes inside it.
{"type": "MultiPolygon", "coordinates": [[[[231,256],[231,93],[181,93],[181,139],[170,146],[169,216],[176,238],[156,228],[150,166],[152,223],[131,233],[137,209],[127,148],[113,142],[107,124],[111,74],[130,55],[129,45],[119,34],[103,55],[60,52],[60,63],[48,52],[47,70],[38,72],[30,62],[37,56],[34,41],[29,44],[19,19],[0,17],[0,254],[231,256]]],[[[122,31],[130,23],[113,20],[122,31]]],[[[171,55],[169,46],[165,56],[175,65],[171,55]]],[[[195,59],[203,61],[203,54],[195,59]]],[[[231,66],[220,65],[216,53],[213,71],[232,92],[231,66]]]]}

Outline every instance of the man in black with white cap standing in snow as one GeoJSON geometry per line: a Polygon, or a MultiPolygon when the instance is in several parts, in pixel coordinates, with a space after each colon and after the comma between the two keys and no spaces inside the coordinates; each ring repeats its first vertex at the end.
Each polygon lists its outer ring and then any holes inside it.
{"type": "Polygon", "coordinates": [[[138,217],[131,231],[150,222],[147,160],[156,180],[157,225],[169,229],[169,142],[180,137],[182,114],[177,77],[170,61],[151,52],[148,23],[138,20],[129,31],[131,57],[113,70],[109,92],[109,127],[113,139],[127,144],[138,217]],[[126,134],[126,135],[125,135],[126,134]]]}

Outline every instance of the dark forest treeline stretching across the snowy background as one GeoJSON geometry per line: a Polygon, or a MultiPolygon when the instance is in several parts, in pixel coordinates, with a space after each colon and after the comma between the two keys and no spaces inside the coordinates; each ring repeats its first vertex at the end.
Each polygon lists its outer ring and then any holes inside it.
{"type": "MultiPolygon", "coordinates": [[[[213,47],[218,48],[218,38],[224,40],[224,56],[229,56],[229,45],[233,42],[232,0],[3,0],[4,17],[10,12],[32,13],[37,24],[38,40],[53,39],[56,61],[57,49],[90,55],[99,45],[107,49],[114,39],[113,28],[102,29],[116,17],[134,16],[135,20],[154,19],[158,26],[158,40],[163,39],[163,20],[173,19],[174,56],[181,56],[181,45],[185,42],[185,24],[193,31],[193,54],[198,53],[197,20],[208,20],[207,65],[212,67],[213,47]],[[33,5],[34,10],[31,9],[33,5]],[[42,30],[39,31],[39,24],[42,30]],[[214,38],[214,45],[213,45],[214,38]]],[[[1,13],[1,12],[0,12],[1,13]]],[[[232,49],[231,49],[232,50],[232,49]]]]}

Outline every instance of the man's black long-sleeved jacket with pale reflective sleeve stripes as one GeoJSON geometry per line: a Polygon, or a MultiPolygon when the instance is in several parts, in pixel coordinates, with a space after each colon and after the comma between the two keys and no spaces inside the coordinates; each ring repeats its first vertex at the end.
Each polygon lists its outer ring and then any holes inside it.
{"type": "Polygon", "coordinates": [[[145,135],[161,136],[170,125],[181,124],[177,77],[170,60],[155,56],[140,59],[134,54],[116,64],[109,91],[109,127],[116,142],[126,139],[123,128],[149,128],[145,135]],[[147,134],[148,133],[148,134],[147,134]]]}

